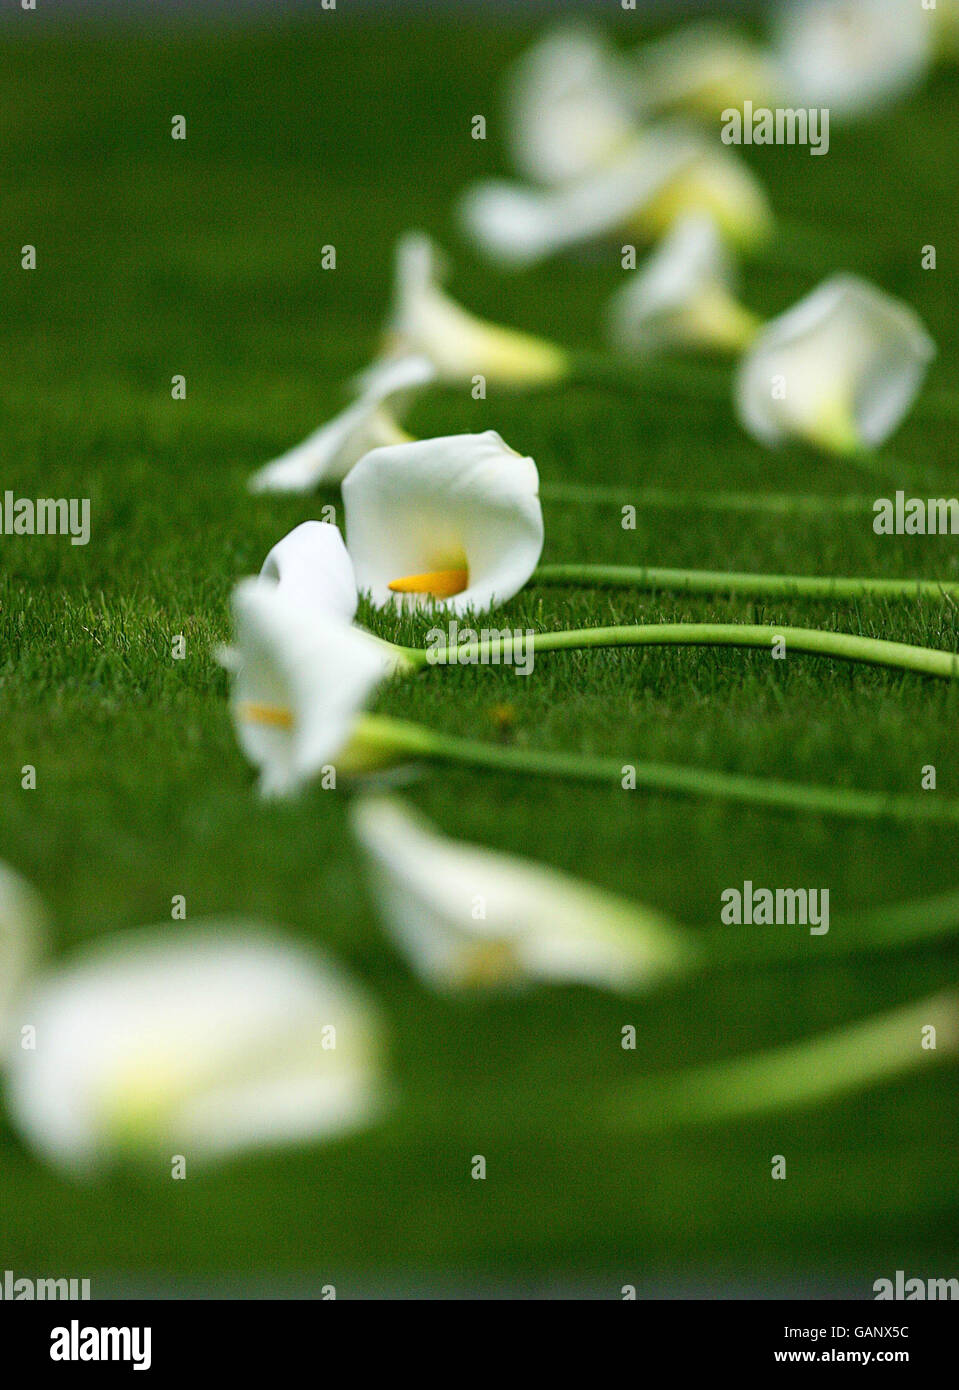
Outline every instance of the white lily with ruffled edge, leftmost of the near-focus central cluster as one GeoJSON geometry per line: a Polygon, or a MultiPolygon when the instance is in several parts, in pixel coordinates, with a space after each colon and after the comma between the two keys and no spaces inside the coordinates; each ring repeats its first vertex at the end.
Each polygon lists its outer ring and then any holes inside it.
{"type": "Polygon", "coordinates": [[[232,674],[236,738],[263,795],[292,795],[327,766],[359,769],[352,735],[399,649],[263,580],[236,585],[233,621],[235,645],[221,662],[232,674]]]}

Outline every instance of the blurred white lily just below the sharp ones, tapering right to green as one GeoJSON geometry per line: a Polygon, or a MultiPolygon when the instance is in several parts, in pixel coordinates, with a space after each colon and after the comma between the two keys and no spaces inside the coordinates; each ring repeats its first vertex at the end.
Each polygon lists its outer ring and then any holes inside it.
{"type": "Polygon", "coordinates": [[[392,798],[359,801],[352,823],[385,924],[436,988],[555,980],[625,991],[692,959],[682,933],[650,909],[448,840],[392,798]]]}

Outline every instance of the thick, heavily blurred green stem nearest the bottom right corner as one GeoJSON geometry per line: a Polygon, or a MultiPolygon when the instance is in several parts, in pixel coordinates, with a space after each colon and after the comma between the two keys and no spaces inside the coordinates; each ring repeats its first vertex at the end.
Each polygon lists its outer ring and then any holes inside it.
{"type": "Polygon", "coordinates": [[[751,1119],[853,1095],[958,1051],[959,995],[942,994],[787,1047],[628,1083],[602,1113],[630,1133],[751,1119]],[[930,1024],[935,1047],[924,1048],[930,1024]]]}

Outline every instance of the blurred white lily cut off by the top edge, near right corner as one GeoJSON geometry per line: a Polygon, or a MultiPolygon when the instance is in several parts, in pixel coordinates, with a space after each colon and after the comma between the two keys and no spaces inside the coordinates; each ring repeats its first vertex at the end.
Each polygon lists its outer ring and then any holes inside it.
{"type": "Polygon", "coordinates": [[[789,100],[851,115],[898,100],[930,68],[931,15],[913,0],[789,0],[776,26],[789,100]]]}

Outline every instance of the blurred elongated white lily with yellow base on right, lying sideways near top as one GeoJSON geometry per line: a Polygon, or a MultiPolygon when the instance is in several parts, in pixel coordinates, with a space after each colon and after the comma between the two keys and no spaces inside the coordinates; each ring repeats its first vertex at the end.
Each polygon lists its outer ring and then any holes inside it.
{"type": "Polygon", "coordinates": [[[616,163],[575,183],[541,190],[502,179],[460,200],[467,235],[503,265],[531,265],[614,232],[662,236],[687,213],[709,214],[724,236],[752,245],[770,227],[760,185],[728,150],[688,131],[659,129],[616,163]]]}

